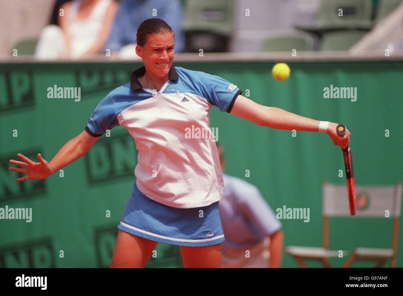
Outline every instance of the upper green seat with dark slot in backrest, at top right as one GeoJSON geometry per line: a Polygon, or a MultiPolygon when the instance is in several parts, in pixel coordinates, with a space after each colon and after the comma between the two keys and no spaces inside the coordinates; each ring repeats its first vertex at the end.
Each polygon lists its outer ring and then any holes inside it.
{"type": "Polygon", "coordinates": [[[372,27],[371,0],[322,0],[318,21],[313,25],[296,26],[305,31],[330,31],[339,29],[370,29],[372,27]],[[343,16],[339,16],[343,9],[343,16]]]}

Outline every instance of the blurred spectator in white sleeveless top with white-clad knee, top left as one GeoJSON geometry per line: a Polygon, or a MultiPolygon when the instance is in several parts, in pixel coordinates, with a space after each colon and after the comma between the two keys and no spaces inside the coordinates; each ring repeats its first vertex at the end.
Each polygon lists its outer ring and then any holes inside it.
{"type": "Polygon", "coordinates": [[[78,59],[104,53],[117,8],[114,0],[66,2],[58,16],[60,27],[45,27],[35,57],[40,60],[78,59]]]}

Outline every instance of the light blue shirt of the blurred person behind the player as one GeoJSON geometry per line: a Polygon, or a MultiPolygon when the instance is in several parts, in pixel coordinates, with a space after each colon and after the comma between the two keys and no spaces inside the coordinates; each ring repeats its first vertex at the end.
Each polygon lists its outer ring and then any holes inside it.
{"type": "Polygon", "coordinates": [[[255,185],[224,173],[222,178],[224,198],[218,205],[225,236],[223,251],[257,244],[281,229],[281,222],[255,185]]]}

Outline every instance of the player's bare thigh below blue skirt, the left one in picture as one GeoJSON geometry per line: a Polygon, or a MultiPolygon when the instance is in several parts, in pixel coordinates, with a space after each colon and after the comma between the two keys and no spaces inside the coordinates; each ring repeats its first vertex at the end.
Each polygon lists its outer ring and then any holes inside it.
{"type": "Polygon", "coordinates": [[[158,242],[119,229],[111,268],[144,268],[158,242]]]}

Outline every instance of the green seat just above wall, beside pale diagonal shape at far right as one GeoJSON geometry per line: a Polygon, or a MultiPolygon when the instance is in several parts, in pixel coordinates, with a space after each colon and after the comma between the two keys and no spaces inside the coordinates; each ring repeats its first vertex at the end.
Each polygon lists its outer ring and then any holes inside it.
{"type": "Polygon", "coordinates": [[[367,32],[362,30],[341,30],[323,35],[321,50],[349,50],[367,32]]]}

